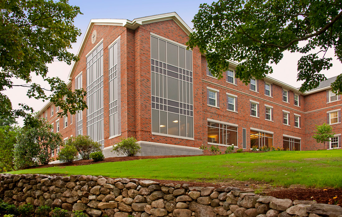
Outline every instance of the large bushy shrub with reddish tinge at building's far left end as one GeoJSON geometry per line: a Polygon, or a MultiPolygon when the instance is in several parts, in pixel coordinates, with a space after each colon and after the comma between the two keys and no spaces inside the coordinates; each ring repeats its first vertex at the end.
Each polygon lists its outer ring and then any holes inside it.
{"type": "Polygon", "coordinates": [[[48,164],[52,161],[51,150],[60,146],[62,137],[51,132],[51,125],[38,120],[37,128],[24,127],[17,130],[17,144],[14,146],[14,164],[16,169],[34,164],[48,164]]]}

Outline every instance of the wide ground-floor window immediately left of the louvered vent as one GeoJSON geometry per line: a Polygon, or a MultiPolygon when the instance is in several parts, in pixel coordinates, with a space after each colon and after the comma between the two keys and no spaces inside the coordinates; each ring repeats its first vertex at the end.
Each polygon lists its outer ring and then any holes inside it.
{"type": "Polygon", "coordinates": [[[208,143],[237,146],[237,127],[208,121],[208,143]]]}

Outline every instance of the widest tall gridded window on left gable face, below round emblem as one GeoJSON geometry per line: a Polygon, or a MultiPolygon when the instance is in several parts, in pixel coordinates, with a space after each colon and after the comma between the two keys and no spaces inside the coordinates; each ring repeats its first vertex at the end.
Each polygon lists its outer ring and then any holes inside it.
{"type": "Polygon", "coordinates": [[[103,43],[87,57],[87,105],[87,135],[103,145],[103,43]]]}

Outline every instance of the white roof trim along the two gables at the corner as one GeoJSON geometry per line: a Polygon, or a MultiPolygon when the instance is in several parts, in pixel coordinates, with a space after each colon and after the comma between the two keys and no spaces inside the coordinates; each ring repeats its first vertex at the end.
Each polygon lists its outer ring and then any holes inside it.
{"type": "MultiPolygon", "coordinates": [[[[136,28],[138,28],[139,26],[144,25],[144,24],[149,24],[149,23],[154,23],[154,22],[159,22],[159,21],[164,21],[164,20],[170,20],[170,19],[175,21],[175,23],[177,25],[179,25],[186,34],[189,35],[190,33],[193,32],[193,30],[184,22],[184,20],[176,12],[135,18],[132,21],[128,20],[128,19],[91,19],[90,23],[88,25],[87,31],[83,36],[81,46],[78,49],[77,57],[81,57],[83,49],[86,45],[87,39],[88,39],[90,32],[91,32],[94,25],[123,26],[123,27],[129,28],[129,29],[135,30],[136,28]]],[[[70,81],[73,79],[73,75],[74,75],[74,72],[76,70],[77,63],[78,62],[73,62],[72,66],[71,66],[71,70],[70,70],[69,76],[68,76],[68,79],[70,81]]]]}

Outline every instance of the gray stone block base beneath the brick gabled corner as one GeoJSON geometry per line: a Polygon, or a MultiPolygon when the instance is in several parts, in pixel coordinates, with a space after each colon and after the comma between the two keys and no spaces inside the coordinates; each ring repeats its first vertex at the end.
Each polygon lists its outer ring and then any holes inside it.
{"type": "MultiPolygon", "coordinates": [[[[141,146],[141,153],[136,156],[159,156],[159,155],[202,155],[203,151],[199,148],[186,147],[180,145],[170,145],[162,143],[152,143],[139,141],[141,146]]],[[[113,146],[109,146],[103,149],[103,155],[105,158],[109,157],[124,157],[124,155],[117,155],[113,152],[113,146]]]]}

